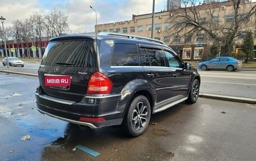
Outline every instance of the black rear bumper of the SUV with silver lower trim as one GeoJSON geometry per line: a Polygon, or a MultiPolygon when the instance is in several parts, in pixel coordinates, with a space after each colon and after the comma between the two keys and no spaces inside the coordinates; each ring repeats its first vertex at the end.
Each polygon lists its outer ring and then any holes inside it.
{"type": "Polygon", "coordinates": [[[124,111],[118,109],[121,95],[85,96],[81,102],[65,100],[40,94],[36,91],[36,106],[38,111],[63,121],[99,128],[121,125],[124,111]],[[81,118],[103,118],[104,121],[81,121],[81,118]]]}

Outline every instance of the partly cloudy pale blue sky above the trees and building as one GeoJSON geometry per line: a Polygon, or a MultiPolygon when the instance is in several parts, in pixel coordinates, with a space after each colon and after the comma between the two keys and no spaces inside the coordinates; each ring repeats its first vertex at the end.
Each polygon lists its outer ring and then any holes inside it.
{"type": "MultiPolygon", "coordinates": [[[[155,0],[155,12],[166,9],[166,2],[155,0]]],[[[95,11],[97,24],[108,24],[131,20],[132,14],[152,13],[153,9],[153,0],[0,0],[0,4],[0,16],[6,19],[4,27],[12,26],[15,20],[29,19],[34,13],[47,15],[56,8],[68,16],[67,32],[73,34],[94,31],[95,11]]]]}

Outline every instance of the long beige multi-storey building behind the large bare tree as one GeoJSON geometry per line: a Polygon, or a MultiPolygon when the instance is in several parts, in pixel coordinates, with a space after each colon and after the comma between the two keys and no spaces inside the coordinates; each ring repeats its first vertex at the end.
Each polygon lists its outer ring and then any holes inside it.
{"type": "MultiPolygon", "coordinates": [[[[256,5],[256,2],[241,4],[243,12],[247,13],[256,5]]],[[[222,24],[222,26],[230,25],[234,21],[234,16],[232,16],[233,4],[231,1],[228,2],[217,2],[213,4],[202,4],[196,6],[196,10],[204,15],[207,8],[218,8],[218,16],[213,16],[217,19],[217,22],[222,24]]],[[[161,40],[170,46],[180,57],[184,60],[200,60],[205,52],[209,51],[209,47],[213,44],[214,39],[205,33],[198,33],[194,35],[183,35],[179,36],[173,34],[175,30],[170,31],[170,29],[177,25],[177,20],[171,20],[175,15],[184,12],[184,8],[171,11],[162,11],[154,14],[154,26],[152,27],[152,13],[145,15],[132,15],[131,20],[125,20],[120,22],[112,22],[108,24],[95,25],[95,31],[100,32],[114,32],[121,34],[131,34],[144,36],[147,38],[151,37],[151,32],[153,30],[154,39],[161,40]],[[176,21],[176,22],[175,22],[176,21]],[[170,33],[172,32],[172,33],[170,33]]],[[[243,15],[243,14],[241,14],[243,15]]],[[[252,31],[256,33],[256,19],[255,14],[250,17],[250,19],[240,25],[240,30],[234,40],[234,49],[236,52],[241,48],[241,43],[243,43],[246,31],[252,31]],[[243,26],[243,27],[241,27],[243,26]]],[[[209,17],[201,17],[198,23],[207,21],[209,17]]],[[[212,18],[211,18],[212,19],[212,18]]],[[[213,23],[214,24],[214,23],[213,23]]],[[[177,25],[179,27],[179,25],[177,25]]],[[[220,25],[221,26],[221,25],[220,25]]],[[[225,29],[223,27],[223,33],[225,29]]],[[[256,52],[256,34],[254,36],[254,48],[256,52]]]]}

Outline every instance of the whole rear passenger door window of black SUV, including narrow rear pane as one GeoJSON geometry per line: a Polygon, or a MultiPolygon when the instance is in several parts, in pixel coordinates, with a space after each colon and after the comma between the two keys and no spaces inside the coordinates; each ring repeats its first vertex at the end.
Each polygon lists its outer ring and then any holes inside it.
{"type": "Polygon", "coordinates": [[[141,62],[143,66],[166,66],[160,49],[141,48],[141,62]]]}

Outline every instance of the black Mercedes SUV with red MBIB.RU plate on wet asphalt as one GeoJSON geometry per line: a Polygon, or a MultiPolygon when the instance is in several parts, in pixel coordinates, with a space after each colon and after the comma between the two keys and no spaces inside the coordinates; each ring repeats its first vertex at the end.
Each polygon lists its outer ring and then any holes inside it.
{"type": "Polygon", "coordinates": [[[150,116],[195,103],[200,76],[166,44],[99,33],[49,40],[38,71],[38,111],[91,128],[122,125],[139,136],[150,116]]]}

